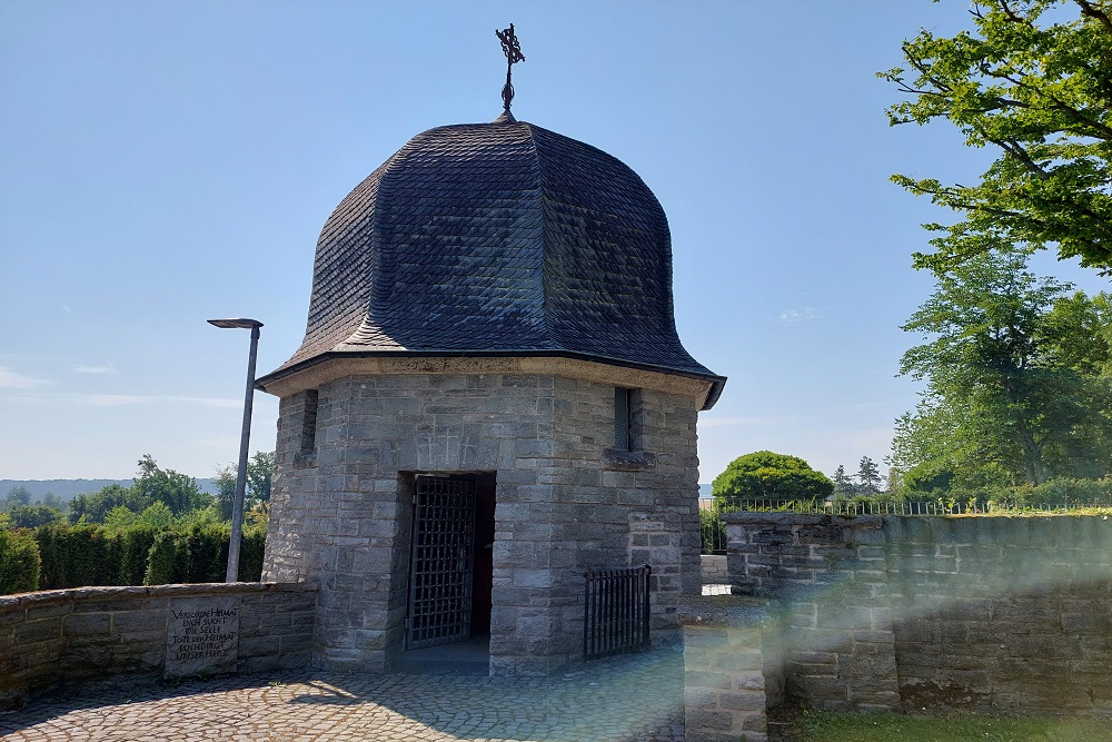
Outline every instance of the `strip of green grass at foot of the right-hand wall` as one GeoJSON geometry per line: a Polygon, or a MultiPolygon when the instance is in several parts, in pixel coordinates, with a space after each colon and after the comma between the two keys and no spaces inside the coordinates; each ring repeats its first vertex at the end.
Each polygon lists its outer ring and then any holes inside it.
{"type": "Polygon", "coordinates": [[[1112,720],[804,711],[801,742],[1112,742],[1112,720]]]}

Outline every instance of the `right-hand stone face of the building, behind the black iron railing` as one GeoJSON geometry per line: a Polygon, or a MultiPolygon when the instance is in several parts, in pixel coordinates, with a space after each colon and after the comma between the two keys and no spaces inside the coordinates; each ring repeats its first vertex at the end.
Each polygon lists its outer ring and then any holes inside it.
{"type": "Polygon", "coordinates": [[[582,641],[583,571],[649,564],[653,639],[675,642],[679,596],[702,591],[694,399],[644,389],[635,451],[618,452],[613,386],[557,377],[555,388],[555,458],[544,476],[562,508],[554,541],[578,544],[563,585],[568,639],[582,641]]]}

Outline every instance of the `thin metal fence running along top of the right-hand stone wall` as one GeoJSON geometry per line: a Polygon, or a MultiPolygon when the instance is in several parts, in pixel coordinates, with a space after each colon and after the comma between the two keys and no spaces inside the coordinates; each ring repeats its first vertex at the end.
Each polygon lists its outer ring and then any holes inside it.
{"type": "Polygon", "coordinates": [[[726,553],[725,513],[807,513],[816,515],[1014,515],[1075,513],[1092,508],[1112,508],[1112,498],[1085,498],[1062,502],[993,501],[969,497],[931,501],[852,498],[852,499],[699,499],[699,530],[704,554],[726,553]]]}

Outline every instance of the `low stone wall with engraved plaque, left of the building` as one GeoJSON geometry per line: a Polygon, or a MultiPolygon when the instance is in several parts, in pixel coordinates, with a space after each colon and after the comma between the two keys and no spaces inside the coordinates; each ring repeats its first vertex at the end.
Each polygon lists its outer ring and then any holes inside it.
{"type": "Polygon", "coordinates": [[[302,667],[306,583],[78,587],[0,596],[0,709],[60,683],[302,667]]]}

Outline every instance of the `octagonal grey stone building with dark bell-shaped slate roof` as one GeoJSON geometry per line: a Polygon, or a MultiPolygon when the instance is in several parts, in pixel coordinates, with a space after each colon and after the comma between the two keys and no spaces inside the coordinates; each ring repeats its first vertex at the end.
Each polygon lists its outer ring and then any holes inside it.
{"type": "Polygon", "coordinates": [[[585,573],[644,564],[675,640],[724,383],[679,342],[633,170],[508,111],[425,131],[328,218],[301,347],[258,379],[281,399],[264,580],[319,583],[331,669],[477,642],[490,673],[554,672],[594,631],[585,573]]]}

